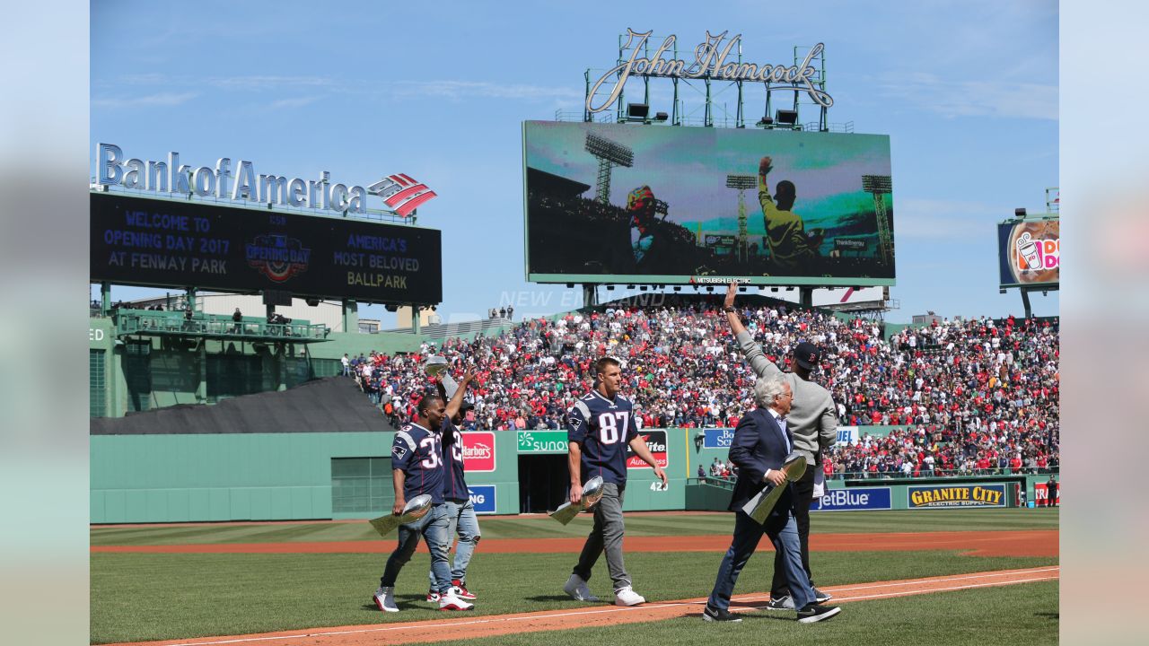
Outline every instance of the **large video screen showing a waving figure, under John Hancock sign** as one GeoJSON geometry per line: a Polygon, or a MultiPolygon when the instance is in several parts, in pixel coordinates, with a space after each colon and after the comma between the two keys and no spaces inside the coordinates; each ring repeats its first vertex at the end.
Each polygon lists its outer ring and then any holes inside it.
{"type": "Polygon", "coordinates": [[[526,277],[894,284],[889,137],[529,121],[526,277]]]}

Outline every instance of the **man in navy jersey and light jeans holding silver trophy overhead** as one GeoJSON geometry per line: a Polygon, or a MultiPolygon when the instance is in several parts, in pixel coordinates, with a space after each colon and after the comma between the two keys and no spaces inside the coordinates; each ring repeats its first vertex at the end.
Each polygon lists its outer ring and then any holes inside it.
{"type": "MultiPolygon", "coordinates": [[[[475,515],[475,505],[471,503],[471,493],[466,489],[466,478],[463,469],[463,436],[460,426],[463,425],[463,417],[466,412],[475,408],[470,401],[463,400],[466,385],[475,378],[475,374],[468,371],[460,382],[455,394],[447,402],[447,410],[442,421],[442,456],[447,463],[444,470],[442,495],[447,502],[447,518],[450,525],[447,529],[447,548],[458,531],[458,546],[455,548],[455,561],[450,567],[450,589],[460,599],[471,601],[475,594],[466,590],[466,567],[471,563],[471,554],[478,545],[479,520],[475,515]]],[[[439,394],[447,397],[447,389],[439,382],[439,394]]],[[[439,580],[434,570],[431,570],[431,591],[427,592],[427,601],[439,600],[439,580]]]]}

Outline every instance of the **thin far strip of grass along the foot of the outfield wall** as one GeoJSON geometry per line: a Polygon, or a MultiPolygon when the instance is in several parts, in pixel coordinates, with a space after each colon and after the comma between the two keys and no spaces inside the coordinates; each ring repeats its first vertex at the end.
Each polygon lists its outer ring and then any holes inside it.
{"type": "MultiPolygon", "coordinates": [[[[1056,530],[1058,509],[948,509],[910,512],[824,512],[812,515],[816,533],[924,531],[1056,530]]],[[[546,516],[479,518],[485,538],[584,537],[591,517],[562,525],[546,516]]],[[[734,516],[715,514],[641,514],[626,516],[629,536],[700,536],[731,533],[734,516]]],[[[101,528],[90,531],[92,545],[183,545],[202,543],[287,543],[378,540],[367,521],[210,524],[194,526],[101,528]]]]}

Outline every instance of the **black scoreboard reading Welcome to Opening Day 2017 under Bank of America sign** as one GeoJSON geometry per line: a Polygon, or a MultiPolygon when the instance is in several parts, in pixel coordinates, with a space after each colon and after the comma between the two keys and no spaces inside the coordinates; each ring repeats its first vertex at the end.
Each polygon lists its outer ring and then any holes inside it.
{"type": "Polygon", "coordinates": [[[434,229],[195,201],[91,194],[91,279],[437,305],[434,229]]]}

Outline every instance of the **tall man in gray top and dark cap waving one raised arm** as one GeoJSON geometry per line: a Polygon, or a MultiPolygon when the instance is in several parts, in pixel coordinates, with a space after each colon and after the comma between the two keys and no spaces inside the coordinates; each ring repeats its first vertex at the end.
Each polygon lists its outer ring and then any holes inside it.
{"type": "MultiPolygon", "coordinates": [[[[797,535],[802,544],[802,567],[805,576],[813,580],[813,572],[810,571],[810,503],[813,501],[813,478],[815,474],[822,469],[822,449],[834,445],[838,440],[838,407],[834,406],[830,391],[810,380],[811,371],[818,366],[822,353],[809,343],[802,341],[794,347],[793,372],[782,372],[762,352],[762,346],[754,343],[750,333],[742,325],[734,309],[734,295],[738,293],[738,283],[731,283],[726,290],[726,300],[723,303],[723,312],[734,333],[735,341],[746,360],[750,363],[750,369],[759,379],[780,377],[794,393],[794,406],[788,416],[789,430],[794,433],[794,449],[805,456],[805,475],[794,483],[794,521],[797,523],[797,535]]],[[[831,594],[824,593],[817,587],[813,589],[818,602],[828,601],[831,594]]],[[[782,576],[781,554],[774,555],[774,579],[770,586],[770,608],[780,610],[794,608],[794,599],[791,598],[791,590],[786,585],[782,576]]]]}

